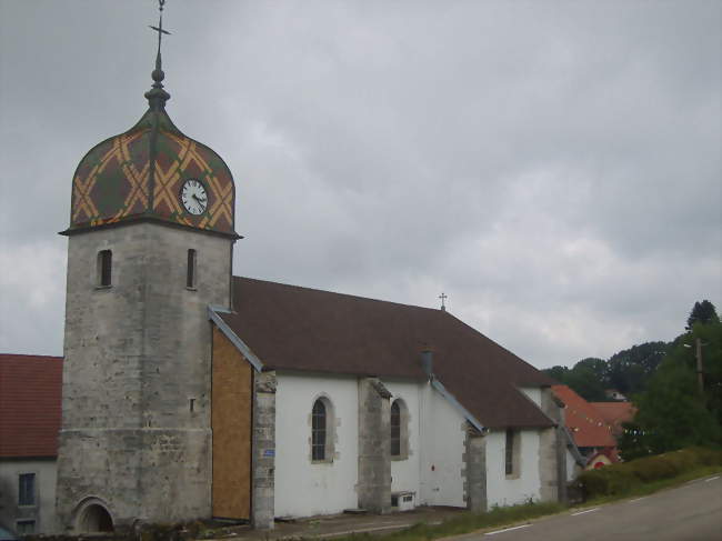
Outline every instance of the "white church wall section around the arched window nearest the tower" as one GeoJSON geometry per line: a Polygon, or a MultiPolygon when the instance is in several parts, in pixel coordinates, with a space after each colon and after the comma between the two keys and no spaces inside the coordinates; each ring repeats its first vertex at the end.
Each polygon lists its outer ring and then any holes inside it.
{"type": "Polygon", "coordinates": [[[357,378],[277,375],[275,517],[310,517],[357,508],[357,378]],[[320,395],[331,401],[335,417],[335,457],[330,463],[311,463],[311,409],[320,395]]]}

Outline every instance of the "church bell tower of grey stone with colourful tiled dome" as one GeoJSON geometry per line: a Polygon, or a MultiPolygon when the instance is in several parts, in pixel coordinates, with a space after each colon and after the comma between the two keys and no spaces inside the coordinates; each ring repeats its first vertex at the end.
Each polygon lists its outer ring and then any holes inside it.
{"type": "Polygon", "coordinates": [[[234,186],[223,160],[166,112],[160,33],[148,111],[92,148],[72,180],[64,532],[211,514],[207,310],[231,302],[234,186]]]}

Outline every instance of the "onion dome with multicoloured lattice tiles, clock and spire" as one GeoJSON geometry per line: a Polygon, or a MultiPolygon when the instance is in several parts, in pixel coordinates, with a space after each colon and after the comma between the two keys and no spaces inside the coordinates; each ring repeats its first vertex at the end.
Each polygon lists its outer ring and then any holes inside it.
{"type": "MultiPolygon", "coordinates": [[[[159,38],[168,33],[152,28],[159,38]]],[[[153,220],[237,237],[231,171],[212,149],[176,128],[166,112],[170,94],[161,82],[160,39],[152,78],[146,114],[80,161],[64,233],[153,220]]]]}

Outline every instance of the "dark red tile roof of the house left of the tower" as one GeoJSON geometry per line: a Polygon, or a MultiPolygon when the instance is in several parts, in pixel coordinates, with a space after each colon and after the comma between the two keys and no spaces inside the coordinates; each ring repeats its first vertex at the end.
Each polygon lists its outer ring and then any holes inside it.
{"type": "Polygon", "coordinates": [[[0,353],[0,458],[56,457],[62,358],[0,353]]]}

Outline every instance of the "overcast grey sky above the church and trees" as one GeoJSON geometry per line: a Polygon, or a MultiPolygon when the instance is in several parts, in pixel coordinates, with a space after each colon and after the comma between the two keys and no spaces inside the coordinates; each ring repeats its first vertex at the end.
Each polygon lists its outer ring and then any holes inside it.
{"type": "MultiPolygon", "coordinates": [[[[449,311],[538,368],[722,308],[722,2],[168,0],[234,273],[449,311]]],[[[153,0],[0,0],[0,352],[62,354],[72,174],[144,112],[153,0]]]]}

